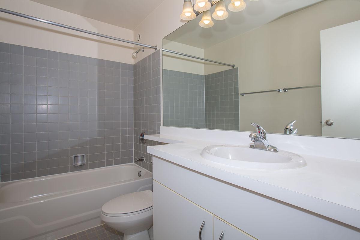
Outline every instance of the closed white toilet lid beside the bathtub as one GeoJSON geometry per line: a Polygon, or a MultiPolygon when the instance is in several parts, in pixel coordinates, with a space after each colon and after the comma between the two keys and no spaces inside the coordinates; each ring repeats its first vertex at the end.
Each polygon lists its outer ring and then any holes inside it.
{"type": "Polygon", "coordinates": [[[150,190],[129,193],[114,198],[101,208],[104,214],[125,214],[138,212],[153,206],[153,192],[150,190]]]}

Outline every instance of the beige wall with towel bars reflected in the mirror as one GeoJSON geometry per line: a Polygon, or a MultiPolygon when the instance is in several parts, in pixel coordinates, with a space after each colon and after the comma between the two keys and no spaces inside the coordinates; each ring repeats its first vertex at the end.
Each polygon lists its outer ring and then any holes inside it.
{"type": "MultiPolygon", "coordinates": [[[[205,49],[205,58],[239,67],[239,92],[319,85],[320,31],[360,19],[359,0],[327,0],[205,49]]],[[[205,63],[205,74],[228,67],[205,63]]],[[[320,88],[240,96],[240,130],[258,122],[283,132],[321,135],[320,88]]]]}

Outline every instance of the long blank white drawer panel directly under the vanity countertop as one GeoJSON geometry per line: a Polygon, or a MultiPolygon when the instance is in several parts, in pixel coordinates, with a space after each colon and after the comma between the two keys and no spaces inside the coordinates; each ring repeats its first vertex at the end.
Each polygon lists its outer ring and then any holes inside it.
{"type": "Polygon", "coordinates": [[[156,157],[153,178],[259,240],[360,239],[357,228],[156,157]]]}

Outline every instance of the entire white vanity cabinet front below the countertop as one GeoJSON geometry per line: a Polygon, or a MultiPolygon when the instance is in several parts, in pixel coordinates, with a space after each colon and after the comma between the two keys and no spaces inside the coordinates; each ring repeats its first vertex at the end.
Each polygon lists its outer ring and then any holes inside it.
{"type": "Polygon", "coordinates": [[[355,227],[156,157],[153,202],[156,240],[197,240],[204,220],[202,240],[360,239],[355,227]]]}

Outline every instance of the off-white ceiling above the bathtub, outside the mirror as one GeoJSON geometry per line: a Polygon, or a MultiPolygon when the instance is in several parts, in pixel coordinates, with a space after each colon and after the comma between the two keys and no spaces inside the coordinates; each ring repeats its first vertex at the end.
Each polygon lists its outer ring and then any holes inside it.
{"type": "MultiPolygon", "coordinates": [[[[134,30],[164,0],[31,0],[134,30]]],[[[179,10],[181,11],[181,9],[179,10]]]]}

